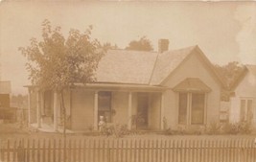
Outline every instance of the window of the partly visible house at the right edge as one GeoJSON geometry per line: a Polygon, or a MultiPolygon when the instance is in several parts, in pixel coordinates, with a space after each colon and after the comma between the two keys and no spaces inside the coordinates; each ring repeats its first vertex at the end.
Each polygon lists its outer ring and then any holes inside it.
{"type": "Polygon", "coordinates": [[[251,122],[253,118],[252,100],[242,99],[240,103],[240,121],[251,122]]]}

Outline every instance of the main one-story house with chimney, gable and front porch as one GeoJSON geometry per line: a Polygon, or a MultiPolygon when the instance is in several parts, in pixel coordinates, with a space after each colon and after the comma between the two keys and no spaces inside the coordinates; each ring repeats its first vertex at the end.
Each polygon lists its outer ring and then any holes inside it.
{"type": "MultiPolygon", "coordinates": [[[[158,52],[109,50],[101,59],[97,81],[77,83],[64,93],[67,126],[98,128],[106,123],[128,125],[140,115],[139,128],[205,127],[220,119],[221,78],[198,46],[168,50],[159,40],[158,52]]],[[[29,121],[58,129],[58,94],[29,89],[29,121]]]]}

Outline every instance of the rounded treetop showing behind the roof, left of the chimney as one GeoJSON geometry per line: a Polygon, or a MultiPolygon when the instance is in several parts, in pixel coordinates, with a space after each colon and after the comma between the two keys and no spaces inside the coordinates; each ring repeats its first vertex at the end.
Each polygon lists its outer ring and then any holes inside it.
{"type": "Polygon", "coordinates": [[[127,50],[136,50],[136,51],[152,51],[151,40],[146,36],[142,36],[139,40],[132,40],[129,42],[127,50]]]}

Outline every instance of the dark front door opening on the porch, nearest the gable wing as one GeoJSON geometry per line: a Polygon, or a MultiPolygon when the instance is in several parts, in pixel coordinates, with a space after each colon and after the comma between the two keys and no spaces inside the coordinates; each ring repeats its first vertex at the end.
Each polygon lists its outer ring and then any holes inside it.
{"type": "Polygon", "coordinates": [[[138,93],[137,127],[147,128],[149,124],[149,94],[138,93]]]}

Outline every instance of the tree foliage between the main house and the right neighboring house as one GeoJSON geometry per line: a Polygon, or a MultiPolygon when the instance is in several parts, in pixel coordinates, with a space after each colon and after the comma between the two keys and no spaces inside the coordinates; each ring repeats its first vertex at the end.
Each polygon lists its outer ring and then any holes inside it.
{"type": "Polygon", "coordinates": [[[225,65],[215,65],[218,73],[225,83],[225,87],[230,89],[234,86],[234,83],[243,75],[244,65],[237,61],[228,62],[225,65]]]}

